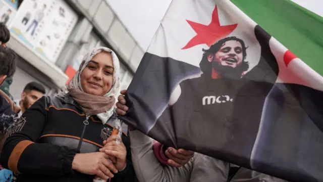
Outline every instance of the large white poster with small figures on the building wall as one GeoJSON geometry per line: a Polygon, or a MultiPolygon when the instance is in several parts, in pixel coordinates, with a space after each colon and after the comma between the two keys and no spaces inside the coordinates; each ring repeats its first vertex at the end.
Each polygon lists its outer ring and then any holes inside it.
{"type": "Polygon", "coordinates": [[[77,22],[77,14],[63,0],[25,0],[10,31],[50,62],[56,62],[77,22]]]}

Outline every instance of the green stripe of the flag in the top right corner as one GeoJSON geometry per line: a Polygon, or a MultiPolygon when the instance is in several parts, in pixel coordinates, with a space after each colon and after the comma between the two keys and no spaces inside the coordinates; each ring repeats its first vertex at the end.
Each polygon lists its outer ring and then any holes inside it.
{"type": "Polygon", "coordinates": [[[323,17],[290,0],[231,0],[308,66],[323,75],[323,17]]]}

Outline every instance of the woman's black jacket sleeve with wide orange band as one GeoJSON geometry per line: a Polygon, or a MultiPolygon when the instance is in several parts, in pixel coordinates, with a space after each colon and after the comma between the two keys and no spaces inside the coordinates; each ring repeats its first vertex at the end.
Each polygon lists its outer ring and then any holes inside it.
{"type": "Polygon", "coordinates": [[[26,110],[5,142],[1,164],[17,173],[60,176],[72,172],[75,150],[37,143],[47,123],[46,97],[26,110]]]}

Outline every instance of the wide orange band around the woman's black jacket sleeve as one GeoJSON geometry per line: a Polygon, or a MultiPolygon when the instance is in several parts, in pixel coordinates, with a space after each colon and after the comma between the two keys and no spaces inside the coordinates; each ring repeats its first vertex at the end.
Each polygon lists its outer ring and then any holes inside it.
{"type": "Polygon", "coordinates": [[[33,144],[33,142],[25,140],[19,142],[14,150],[11,152],[9,161],[8,161],[8,167],[10,170],[20,173],[18,171],[18,161],[21,156],[21,154],[24,152],[24,150],[30,145],[33,144]]]}

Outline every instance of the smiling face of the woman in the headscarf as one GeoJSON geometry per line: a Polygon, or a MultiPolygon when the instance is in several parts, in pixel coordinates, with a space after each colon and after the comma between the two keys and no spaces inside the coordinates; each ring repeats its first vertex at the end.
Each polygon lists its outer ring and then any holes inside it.
{"type": "Polygon", "coordinates": [[[87,94],[103,96],[113,84],[113,60],[111,53],[96,54],[81,73],[81,86],[87,94]]]}

